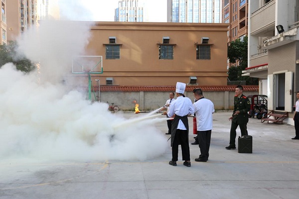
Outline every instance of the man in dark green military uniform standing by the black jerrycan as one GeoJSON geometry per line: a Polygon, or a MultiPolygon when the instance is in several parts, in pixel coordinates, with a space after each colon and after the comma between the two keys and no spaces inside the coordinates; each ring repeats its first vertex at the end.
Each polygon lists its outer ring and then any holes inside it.
{"type": "Polygon", "coordinates": [[[236,129],[240,126],[241,136],[248,135],[247,123],[248,123],[248,111],[250,110],[250,101],[243,95],[243,87],[236,87],[236,95],[234,98],[234,112],[229,118],[232,120],[231,130],[230,130],[230,141],[229,146],[226,149],[236,149],[236,129]]]}

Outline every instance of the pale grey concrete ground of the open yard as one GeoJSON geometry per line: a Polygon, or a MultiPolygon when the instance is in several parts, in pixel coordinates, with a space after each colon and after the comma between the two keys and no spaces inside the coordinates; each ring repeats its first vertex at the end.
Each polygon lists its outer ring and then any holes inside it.
{"type": "MultiPolygon", "coordinates": [[[[162,156],[143,162],[23,164],[0,160],[0,199],[298,199],[299,140],[291,139],[294,126],[250,118],[253,153],[241,154],[225,149],[230,115],[214,113],[206,163],[194,161],[199,148],[191,144],[190,168],[182,161],[176,167],[168,165],[170,146],[162,156]]],[[[189,125],[192,143],[192,118],[189,125]]],[[[166,121],[156,126],[161,133],[167,132],[166,121]]]]}

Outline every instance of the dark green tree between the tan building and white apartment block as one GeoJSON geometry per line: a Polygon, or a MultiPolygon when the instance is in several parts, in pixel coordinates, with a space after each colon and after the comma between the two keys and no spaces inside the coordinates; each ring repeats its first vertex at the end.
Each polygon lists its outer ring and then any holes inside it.
{"type": "Polygon", "coordinates": [[[228,79],[231,81],[246,81],[246,85],[258,85],[258,78],[242,76],[242,71],[247,68],[248,61],[248,37],[243,40],[236,39],[230,42],[227,48],[227,58],[230,63],[238,64],[236,67],[228,69],[228,79]]]}

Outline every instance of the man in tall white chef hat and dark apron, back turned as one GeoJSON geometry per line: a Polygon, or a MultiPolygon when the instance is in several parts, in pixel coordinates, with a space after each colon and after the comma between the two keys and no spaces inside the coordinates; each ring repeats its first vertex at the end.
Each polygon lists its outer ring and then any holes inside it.
{"type": "Polygon", "coordinates": [[[192,101],[189,98],[184,97],[186,84],[176,83],[176,100],[169,106],[168,112],[163,112],[164,115],[172,117],[174,119],[171,124],[171,149],[172,160],[169,161],[169,165],[176,166],[178,160],[178,145],[181,145],[183,165],[190,167],[190,149],[189,149],[189,124],[188,115],[194,113],[192,101]]]}

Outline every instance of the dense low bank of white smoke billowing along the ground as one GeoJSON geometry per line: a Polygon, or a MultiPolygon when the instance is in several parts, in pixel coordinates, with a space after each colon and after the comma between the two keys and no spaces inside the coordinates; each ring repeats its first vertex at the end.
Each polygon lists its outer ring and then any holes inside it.
{"type": "Polygon", "coordinates": [[[64,92],[12,64],[0,68],[0,159],[145,160],[165,152],[166,138],[153,127],[159,120],[135,122],[64,92]]]}

